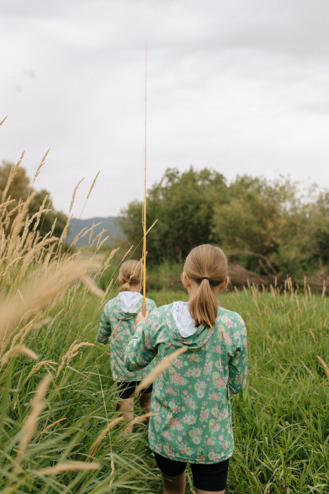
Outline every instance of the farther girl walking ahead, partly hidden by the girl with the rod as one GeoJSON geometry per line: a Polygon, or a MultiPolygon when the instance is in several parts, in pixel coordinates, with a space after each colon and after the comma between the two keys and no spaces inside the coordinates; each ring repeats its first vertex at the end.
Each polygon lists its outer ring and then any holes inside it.
{"type": "MultiPolygon", "coordinates": [[[[133,417],[136,383],[143,380],[155,366],[155,363],[152,362],[144,371],[129,372],[123,362],[126,343],[135,330],[135,318],[143,303],[143,297],[140,293],[143,285],[143,265],[134,260],[124,262],[119,271],[119,283],[121,286],[120,293],[109,300],[104,307],[97,341],[104,344],[108,343],[111,332],[120,322],[110,342],[110,366],[112,378],[118,380],[117,384],[120,391],[118,410],[126,419],[130,420],[133,417]]],[[[155,302],[146,298],[146,307],[149,311],[156,309],[155,302]]],[[[146,409],[146,412],[149,412],[151,393],[152,384],[140,395],[141,407],[146,409]]],[[[133,425],[129,424],[124,432],[132,431],[133,425]]]]}

